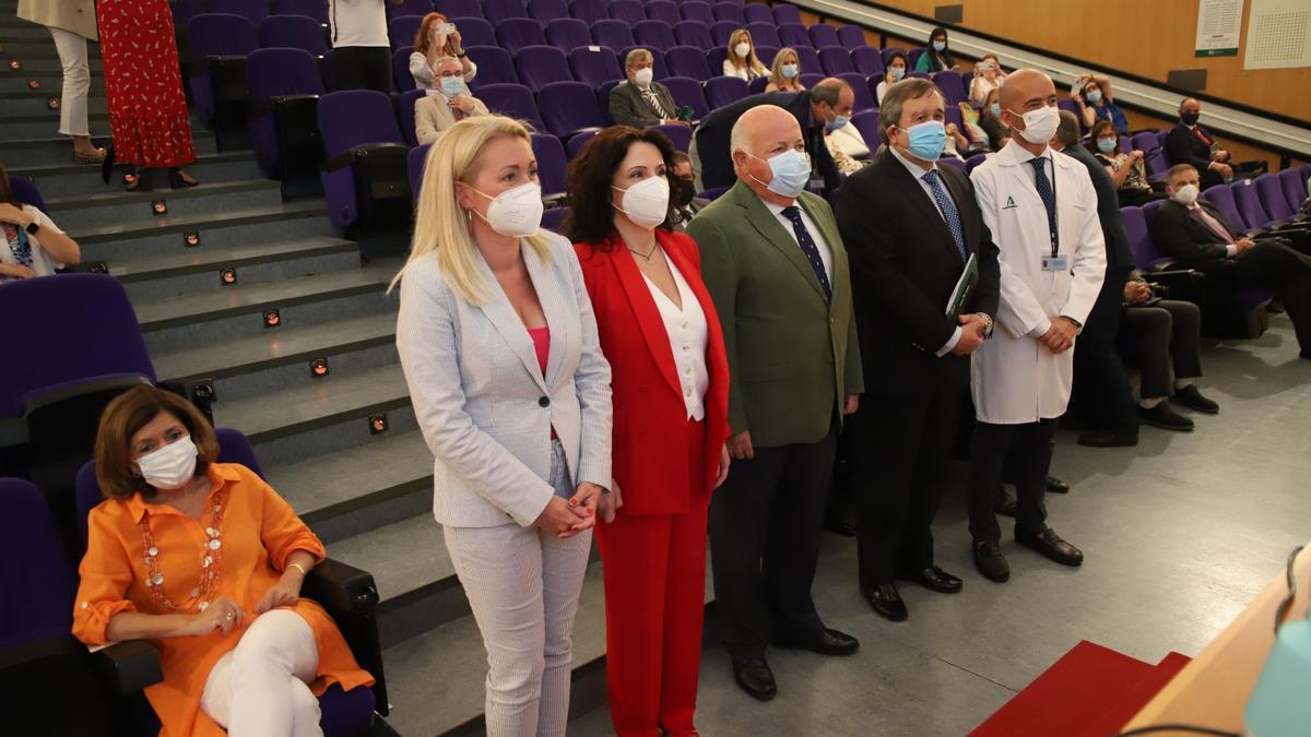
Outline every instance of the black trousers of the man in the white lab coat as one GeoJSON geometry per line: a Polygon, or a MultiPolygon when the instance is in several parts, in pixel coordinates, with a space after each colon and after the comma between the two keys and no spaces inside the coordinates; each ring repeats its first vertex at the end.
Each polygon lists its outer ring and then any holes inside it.
{"type": "Polygon", "coordinates": [[[1047,528],[1047,471],[1051,468],[1051,439],[1057,420],[1040,420],[1024,425],[974,425],[970,446],[970,480],[968,504],[970,536],[986,543],[1000,543],[1002,527],[996,523],[998,494],[1002,493],[1002,464],[1009,455],[1015,476],[1016,527],[1030,532],[1047,528]]]}

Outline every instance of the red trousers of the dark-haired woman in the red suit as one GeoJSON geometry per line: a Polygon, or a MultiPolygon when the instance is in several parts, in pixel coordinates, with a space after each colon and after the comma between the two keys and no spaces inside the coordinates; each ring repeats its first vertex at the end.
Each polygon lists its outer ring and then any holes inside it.
{"type": "MultiPolygon", "coordinates": [[[[688,422],[686,514],[624,514],[597,525],[606,578],[606,679],[620,737],[692,732],[705,612],[704,425],[688,422]]],[[[718,460],[718,459],[714,459],[718,460]]],[[[620,481],[623,492],[623,481],[620,481]]]]}

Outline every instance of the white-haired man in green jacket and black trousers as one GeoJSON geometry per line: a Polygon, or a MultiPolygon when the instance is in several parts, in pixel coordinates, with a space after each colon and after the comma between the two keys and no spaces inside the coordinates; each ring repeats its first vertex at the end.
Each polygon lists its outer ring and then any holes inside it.
{"type": "Polygon", "coordinates": [[[738,181],[688,223],[729,357],[733,469],[711,501],[721,640],[738,686],[777,694],[768,643],[855,653],[810,597],[842,418],[863,391],[847,252],[829,205],[802,191],[797,119],[762,105],[738,118],[738,181]]]}

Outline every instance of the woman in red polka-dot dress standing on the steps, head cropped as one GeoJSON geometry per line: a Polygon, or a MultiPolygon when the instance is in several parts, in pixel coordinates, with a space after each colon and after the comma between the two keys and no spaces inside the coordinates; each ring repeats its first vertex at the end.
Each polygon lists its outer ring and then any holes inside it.
{"type": "Polygon", "coordinates": [[[136,167],[127,189],[140,186],[144,169],[168,169],[174,188],[195,186],[182,170],[195,146],[168,0],[98,0],[96,16],[114,159],[136,167]]]}

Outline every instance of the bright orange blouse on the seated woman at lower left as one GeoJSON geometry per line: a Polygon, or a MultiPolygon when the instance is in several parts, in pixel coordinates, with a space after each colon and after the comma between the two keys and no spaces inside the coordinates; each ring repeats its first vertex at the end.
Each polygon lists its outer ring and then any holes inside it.
{"type": "MultiPolygon", "coordinates": [[[[325,557],[324,546],[291,506],[264,483],[258,475],[239,463],[212,463],[206,471],[212,490],[206,509],[224,501],[218,526],[222,555],[212,597],[228,597],[241,605],[245,619],[223,636],[210,635],[165,637],[159,648],[164,681],[146,688],[155,713],[164,725],[160,737],[189,734],[223,737],[224,730],[201,711],[201,695],[210,669],[228,650],[236,648],[245,628],[254,619],[254,607],[278,582],[287,559],[305,551],[317,560],[325,557]],[[224,500],[225,497],[225,500],[224,500]]],[[[210,514],[202,515],[208,525],[210,514]]],[[[202,584],[202,549],[210,549],[205,525],[164,504],[151,504],[135,494],[128,500],[106,500],[88,518],[87,557],[79,572],[81,585],[73,605],[73,635],[88,645],[106,644],[109,620],[123,611],[170,614],[156,603],[148,585],[152,574],[163,576],[164,597],[177,605],[193,602],[186,612],[194,614],[193,597],[205,591],[202,584]],[[146,532],[148,525],[155,552],[155,567],[147,563],[146,532]]],[[[212,598],[211,597],[211,598],[212,598]]],[[[341,632],[326,611],[309,599],[294,607],[315,631],[319,645],[317,678],[311,683],[316,695],[333,683],[343,690],[371,686],[374,678],[355,664],[341,632]]]]}

